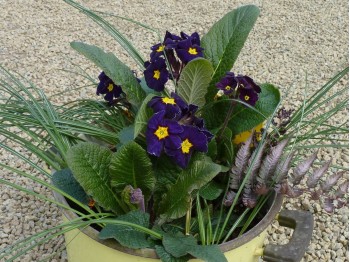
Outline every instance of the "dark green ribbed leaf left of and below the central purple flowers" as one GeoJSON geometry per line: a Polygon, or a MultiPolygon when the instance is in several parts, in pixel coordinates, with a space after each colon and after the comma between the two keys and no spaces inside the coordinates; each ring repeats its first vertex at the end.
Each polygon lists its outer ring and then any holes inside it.
{"type": "Polygon", "coordinates": [[[109,167],[111,185],[121,192],[125,186],[140,188],[145,200],[154,189],[155,177],[146,151],[137,143],[129,142],[113,154],[109,167]]]}

